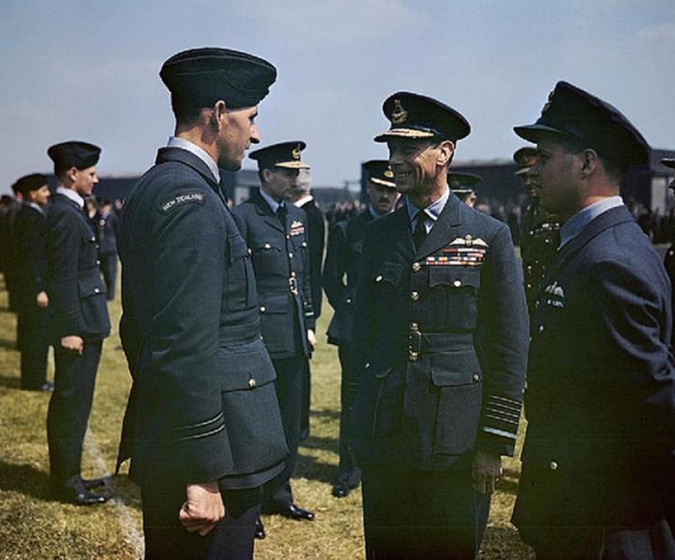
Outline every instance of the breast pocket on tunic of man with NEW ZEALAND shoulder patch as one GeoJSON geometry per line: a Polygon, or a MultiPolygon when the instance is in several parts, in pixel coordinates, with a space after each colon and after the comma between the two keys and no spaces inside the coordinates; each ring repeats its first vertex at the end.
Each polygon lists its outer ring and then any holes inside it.
{"type": "Polygon", "coordinates": [[[224,305],[230,311],[247,309],[258,304],[256,280],[248,248],[242,236],[228,236],[224,305]]]}

